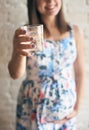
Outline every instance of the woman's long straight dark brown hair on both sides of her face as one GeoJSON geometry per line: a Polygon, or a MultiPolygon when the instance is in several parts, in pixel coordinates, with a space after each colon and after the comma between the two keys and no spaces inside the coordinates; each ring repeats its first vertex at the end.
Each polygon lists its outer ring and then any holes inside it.
{"type": "MultiPolygon", "coordinates": [[[[28,22],[29,24],[44,24],[41,20],[40,13],[36,9],[36,2],[35,0],[27,0],[27,9],[28,9],[28,22]]],[[[71,27],[66,22],[63,12],[63,2],[62,7],[57,15],[57,27],[59,28],[61,33],[66,31],[70,31],[71,27]]],[[[48,31],[47,27],[44,24],[44,28],[48,31]]],[[[49,32],[49,31],[48,31],[49,32]]]]}

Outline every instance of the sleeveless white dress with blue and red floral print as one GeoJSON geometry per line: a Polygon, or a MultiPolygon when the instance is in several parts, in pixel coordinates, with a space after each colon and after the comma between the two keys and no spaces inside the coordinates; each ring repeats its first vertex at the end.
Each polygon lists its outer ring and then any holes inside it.
{"type": "Polygon", "coordinates": [[[16,130],[77,130],[75,118],[62,125],[53,123],[69,115],[76,103],[73,29],[69,37],[45,40],[43,44],[43,51],[27,57],[27,75],[18,95],[16,130]]]}

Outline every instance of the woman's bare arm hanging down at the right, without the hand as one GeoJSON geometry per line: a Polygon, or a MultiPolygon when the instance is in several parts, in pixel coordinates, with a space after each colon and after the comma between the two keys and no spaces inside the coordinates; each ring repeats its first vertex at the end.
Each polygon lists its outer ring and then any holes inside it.
{"type": "Polygon", "coordinates": [[[80,108],[81,100],[84,93],[84,47],[83,47],[83,36],[77,26],[74,26],[75,30],[75,40],[77,46],[77,59],[74,64],[75,69],[75,79],[76,79],[76,92],[77,92],[77,102],[75,109],[78,111],[80,108]]]}

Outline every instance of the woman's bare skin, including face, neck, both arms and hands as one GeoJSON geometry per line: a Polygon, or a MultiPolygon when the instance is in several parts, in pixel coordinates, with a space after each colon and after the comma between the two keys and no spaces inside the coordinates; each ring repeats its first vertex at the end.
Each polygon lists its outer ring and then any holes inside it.
{"type": "MultiPolygon", "coordinates": [[[[56,26],[56,15],[60,11],[62,2],[61,0],[36,0],[37,9],[41,14],[41,18],[49,29],[50,35],[45,37],[50,40],[59,40],[69,36],[69,32],[61,34],[56,26]],[[55,35],[54,35],[55,34],[55,35]]],[[[74,25],[74,37],[77,47],[77,59],[74,63],[74,72],[76,78],[77,88],[77,102],[75,104],[73,112],[65,117],[63,120],[55,121],[53,123],[63,124],[78,114],[83,91],[84,91],[84,50],[83,50],[83,36],[79,28],[74,25]]],[[[13,54],[9,62],[8,69],[10,75],[14,79],[18,79],[24,75],[26,69],[26,56],[31,56],[31,53],[27,52],[27,49],[34,49],[30,44],[26,44],[27,41],[32,41],[32,38],[27,36],[26,31],[19,28],[15,31],[13,40],[13,54]],[[23,43],[25,42],[25,44],[23,43]]]]}

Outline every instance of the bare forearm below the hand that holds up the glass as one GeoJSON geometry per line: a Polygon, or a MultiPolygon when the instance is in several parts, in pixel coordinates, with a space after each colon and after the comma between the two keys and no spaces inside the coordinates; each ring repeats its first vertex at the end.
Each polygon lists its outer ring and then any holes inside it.
{"type": "Polygon", "coordinates": [[[8,64],[8,69],[13,79],[20,78],[25,73],[26,57],[13,53],[12,58],[8,64]]]}

